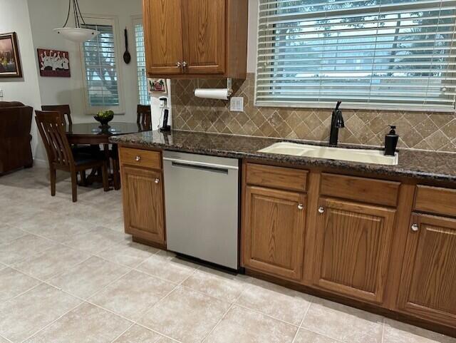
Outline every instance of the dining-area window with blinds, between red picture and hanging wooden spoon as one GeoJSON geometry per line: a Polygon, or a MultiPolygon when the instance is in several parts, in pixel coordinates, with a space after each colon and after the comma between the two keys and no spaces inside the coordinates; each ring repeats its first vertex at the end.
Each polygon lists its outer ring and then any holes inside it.
{"type": "MultiPolygon", "coordinates": [[[[106,20],[106,19],[105,19],[106,20]]],[[[113,25],[88,24],[100,31],[83,43],[84,76],[88,111],[120,107],[117,51],[113,25]]]]}

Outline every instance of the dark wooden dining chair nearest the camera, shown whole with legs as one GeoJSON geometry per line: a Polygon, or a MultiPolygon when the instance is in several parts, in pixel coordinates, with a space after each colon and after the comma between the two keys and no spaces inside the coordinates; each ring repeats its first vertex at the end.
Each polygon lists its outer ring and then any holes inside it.
{"type": "Polygon", "coordinates": [[[78,200],[78,173],[85,173],[88,169],[101,169],[103,188],[109,190],[108,161],[103,154],[73,155],[68,138],[66,137],[66,124],[58,111],[35,111],[36,125],[43,139],[48,155],[49,171],[51,174],[51,195],[56,195],[56,170],[71,173],[71,190],[73,203],[78,200]]]}

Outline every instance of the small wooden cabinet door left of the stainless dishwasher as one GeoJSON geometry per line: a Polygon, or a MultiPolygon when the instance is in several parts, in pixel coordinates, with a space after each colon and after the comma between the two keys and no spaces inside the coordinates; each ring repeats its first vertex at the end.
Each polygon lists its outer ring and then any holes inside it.
{"type": "Polygon", "coordinates": [[[165,224],[161,173],[123,165],[122,188],[125,232],[163,244],[165,224]]]}

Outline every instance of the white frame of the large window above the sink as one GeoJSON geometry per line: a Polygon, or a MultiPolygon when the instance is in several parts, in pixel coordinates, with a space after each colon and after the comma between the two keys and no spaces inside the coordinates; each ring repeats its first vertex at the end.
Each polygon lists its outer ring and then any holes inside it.
{"type": "MultiPolygon", "coordinates": [[[[322,101],[306,101],[306,102],[292,102],[292,101],[286,101],[286,102],[273,102],[273,101],[258,101],[257,99],[257,87],[258,87],[258,72],[261,69],[259,66],[259,47],[260,47],[260,13],[261,13],[261,0],[258,0],[258,7],[257,7],[257,46],[255,50],[255,79],[254,79],[254,106],[256,107],[279,107],[279,108],[333,108],[334,103],[328,103],[322,102],[322,101]]],[[[456,21],[455,21],[455,26],[454,26],[454,34],[453,38],[456,37],[456,21]]],[[[272,44],[272,43],[271,43],[272,44]]],[[[452,46],[455,46],[456,48],[456,39],[453,39],[452,41],[452,46]]],[[[452,48],[451,48],[452,50],[452,48]]],[[[451,61],[451,62],[456,62],[451,61]]],[[[456,76],[456,66],[452,67],[453,70],[455,71],[455,76],[456,76]]],[[[272,74],[271,74],[272,75],[272,74]]],[[[455,83],[456,86],[456,81],[452,81],[455,83]]],[[[456,91],[456,88],[455,88],[456,91]]],[[[436,113],[448,113],[448,114],[454,114],[456,113],[456,96],[455,96],[455,101],[454,101],[454,106],[453,108],[425,108],[425,107],[413,107],[409,106],[406,103],[403,103],[402,105],[398,106],[398,103],[348,103],[346,102],[346,108],[354,109],[354,110],[366,110],[366,111],[373,111],[373,110],[378,110],[378,111],[413,111],[413,112],[436,112],[436,113]]]]}

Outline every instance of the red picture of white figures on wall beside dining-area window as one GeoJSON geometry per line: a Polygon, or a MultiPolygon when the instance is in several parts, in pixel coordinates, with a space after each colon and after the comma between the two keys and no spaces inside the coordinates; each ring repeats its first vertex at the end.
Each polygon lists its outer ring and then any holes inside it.
{"type": "Polygon", "coordinates": [[[41,76],[69,78],[70,56],[68,51],[54,50],[50,48],[38,48],[38,65],[41,76]]]}

